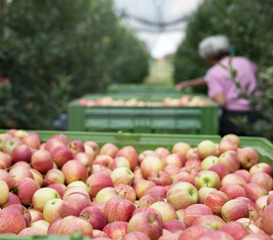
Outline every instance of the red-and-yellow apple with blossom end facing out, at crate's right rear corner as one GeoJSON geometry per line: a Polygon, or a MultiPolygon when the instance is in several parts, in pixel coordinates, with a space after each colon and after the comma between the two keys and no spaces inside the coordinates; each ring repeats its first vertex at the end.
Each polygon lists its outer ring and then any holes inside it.
{"type": "Polygon", "coordinates": [[[243,147],[238,149],[238,160],[243,169],[249,170],[258,163],[259,155],[252,147],[243,147]]]}

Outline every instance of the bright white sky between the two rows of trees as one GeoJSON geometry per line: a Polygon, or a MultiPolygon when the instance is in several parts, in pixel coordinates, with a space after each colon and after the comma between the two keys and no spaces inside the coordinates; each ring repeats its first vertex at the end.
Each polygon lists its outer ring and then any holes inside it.
{"type": "Polygon", "coordinates": [[[202,0],[114,0],[118,12],[124,11],[126,23],[137,30],[138,37],[145,41],[153,58],[163,58],[176,51],[184,37],[185,21],[168,25],[168,31],[157,31],[148,23],[170,23],[190,15],[202,0]]]}

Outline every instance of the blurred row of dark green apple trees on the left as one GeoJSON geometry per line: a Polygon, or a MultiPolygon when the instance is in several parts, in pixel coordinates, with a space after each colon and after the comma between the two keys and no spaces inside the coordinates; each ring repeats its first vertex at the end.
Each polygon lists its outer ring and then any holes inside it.
{"type": "Polygon", "coordinates": [[[112,0],[0,0],[0,24],[0,128],[52,129],[73,98],[148,74],[112,0]]]}

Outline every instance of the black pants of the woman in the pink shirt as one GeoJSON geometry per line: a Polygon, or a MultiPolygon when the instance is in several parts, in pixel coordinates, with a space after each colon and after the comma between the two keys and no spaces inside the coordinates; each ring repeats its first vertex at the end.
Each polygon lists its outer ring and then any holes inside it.
{"type": "Polygon", "coordinates": [[[238,117],[248,117],[248,123],[246,128],[244,129],[250,129],[251,124],[255,123],[256,120],[260,118],[260,116],[257,113],[253,112],[239,112],[239,111],[228,111],[223,110],[223,114],[221,116],[220,120],[220,135],[224,136],[230,133],[236,134],[238,136],[254,136],[255,134],[249,133],[248,131],[244,131],[239,127],[238,125],[231,122],[231,118],[237,119],[238,117]]]}

